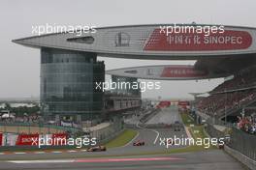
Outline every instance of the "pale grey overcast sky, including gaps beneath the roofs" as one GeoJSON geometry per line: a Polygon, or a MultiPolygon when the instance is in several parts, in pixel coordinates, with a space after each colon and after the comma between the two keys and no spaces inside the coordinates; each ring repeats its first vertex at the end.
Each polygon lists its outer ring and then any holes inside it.
{"type": "MultiPolygon", "coordinates": [[[[129,25],[153,23],[206,23],[256,27],[255,0],[1,0],[0,98],[39,96],[39,49],[11,42],[32,35],[32,25],[129,25]]],[[[144,61],[99,57],[106,69],[193,61],[144,61]]],[[[161,90],[145,98],[190,98],[206,92],[222,79],[161,81],[161,90]]]]}

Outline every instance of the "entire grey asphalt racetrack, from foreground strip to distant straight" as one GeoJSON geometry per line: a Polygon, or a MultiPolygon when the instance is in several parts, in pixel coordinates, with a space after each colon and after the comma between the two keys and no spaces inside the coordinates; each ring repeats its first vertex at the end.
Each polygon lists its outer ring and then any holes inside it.
{"type": "MultiPolygon", "coordinates": [[[[159,114],[170,114],[170,117],[179,119],[176,108],[164,109],[159,114]]],[[[158,119],[158,117],[155,116],[152,119],[158,119]]],[[[174,135],[179,137],[186,136],[184,130],[174,131],[172,128],[138,128],[138,131],[139,135],[126,146],[109,149],[107,152],[0,155],[0,169],[243,169],[242,165],[237,160],[231,156],[228,156],[221,150],[208,150],[205,152],[162,156],[132,156],[140,155],[142,153],[164,152],[167,150],[172,150],[176,147],[181,147],[172,146],[167,149],[166,146],[161,145],[159,139],[174,137],[174,135]],[[157,141],[155,141],[156,137],[158,137],[157,141]],[[145,146],[134,147],[133,142],[137,140],[144,140],[145,146]]]]}

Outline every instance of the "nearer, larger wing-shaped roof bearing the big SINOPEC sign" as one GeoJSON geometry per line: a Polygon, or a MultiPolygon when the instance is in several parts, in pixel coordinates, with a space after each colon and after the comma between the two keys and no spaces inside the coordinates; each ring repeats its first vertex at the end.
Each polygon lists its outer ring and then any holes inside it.
{"type": "Polygon", "coordinates": [[[93,52],[102,57],[197,60],[195,70],[213,72],[217,76],[256,63],[256,29],[250,27],[155,24],[102,27],[86,33],[80,31],[79,35],[78,32],[34,36],[13,42],[31,47],[93,52]],[[185,29],[176,32],[177,26],[185,29]],[[205,28],[210,28],[210,32],[205,28]]]}

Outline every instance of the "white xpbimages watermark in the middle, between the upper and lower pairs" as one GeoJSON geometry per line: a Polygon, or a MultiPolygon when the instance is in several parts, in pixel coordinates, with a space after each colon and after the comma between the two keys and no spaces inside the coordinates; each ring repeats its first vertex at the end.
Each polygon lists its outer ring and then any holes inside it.
{"type": "Polygon", "coordinates": [[[161,82],[159,81],[134,81],[134,82],[113,82],[112,80],[106,82],[96,82],[96,90],[159,90],[161,89],[161,82]]]}

